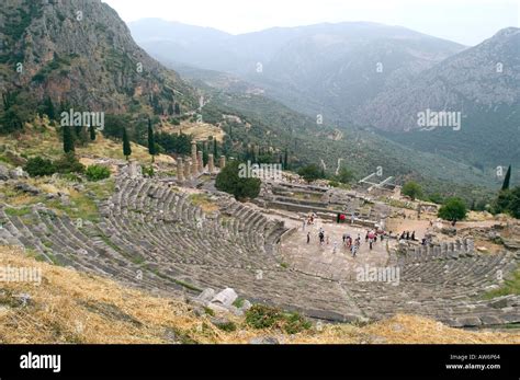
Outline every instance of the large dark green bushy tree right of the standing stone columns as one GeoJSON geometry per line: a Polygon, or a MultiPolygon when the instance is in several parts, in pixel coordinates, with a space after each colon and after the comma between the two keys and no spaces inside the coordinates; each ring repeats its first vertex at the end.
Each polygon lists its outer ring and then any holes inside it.
{"type": "Polygon", "coordinates": [[[240,163],[230,161],[218,173],[215,180],[215,187],[221,192],[233,194],[237,200],[252,199],[260,194],[259,179],[244,177],[239,175],[240,163]]]}

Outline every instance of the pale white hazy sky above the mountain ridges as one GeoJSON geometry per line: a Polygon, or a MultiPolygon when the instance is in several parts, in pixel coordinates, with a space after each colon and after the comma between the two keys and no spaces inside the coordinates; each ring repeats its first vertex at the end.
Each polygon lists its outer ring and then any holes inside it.
{"type": "Polygon", "coordinates": [[[103,0],[126,21],[160,18],[231,34],[272,26],[371,21],[476,45],[519,27],[520,0],[103,0]]]}

